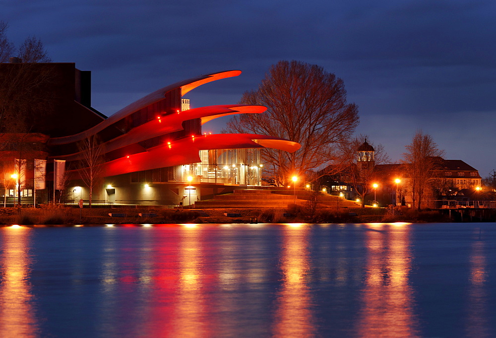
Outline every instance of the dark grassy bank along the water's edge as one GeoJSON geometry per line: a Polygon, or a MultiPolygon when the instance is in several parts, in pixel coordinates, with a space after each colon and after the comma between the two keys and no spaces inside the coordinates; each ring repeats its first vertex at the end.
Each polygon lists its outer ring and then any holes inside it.
{"type": "MultiPolygon", "coordinates": [[[[492,215],[494,217],[494,215],[492,215]]],[[[299,205],[287,208],[253,209],[77,209],[62,205],[41,208],[0,208],[0,224],[175,224],[175,223],[372,223],[372,222],[452,222],[437,210],[397,208],[394,215],[380,208],[329,208],[313,210],[299,205]],[[111,217],[121,213],[123,217],[111,217]],[[139,214],[153,214],[141,217],[139,214]],[[228,217],[224,213],[233,213],[228,217]]]]}

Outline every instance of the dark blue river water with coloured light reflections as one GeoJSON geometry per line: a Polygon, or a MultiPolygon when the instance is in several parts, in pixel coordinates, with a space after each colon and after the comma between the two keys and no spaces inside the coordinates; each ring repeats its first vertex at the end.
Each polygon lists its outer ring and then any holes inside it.
{"type": "Polygon", "coordinates": [[[0,337],[495,337],[496,223],[0,228],[0,337]]]}

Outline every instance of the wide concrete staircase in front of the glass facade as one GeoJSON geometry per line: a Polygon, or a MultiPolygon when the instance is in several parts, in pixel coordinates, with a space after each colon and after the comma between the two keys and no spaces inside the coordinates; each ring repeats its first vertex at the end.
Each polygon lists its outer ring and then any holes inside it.
{"type": "MultiPolygon", "coordinates": [[[[305,203],[296,199],[296,203],[305,203]]],[[[233,194],[217,195],[212,200],[194,203],[195,208],[286,208],[295,203],[292,195],[272,194],[268,190],[235,190],[233,194]]]]}

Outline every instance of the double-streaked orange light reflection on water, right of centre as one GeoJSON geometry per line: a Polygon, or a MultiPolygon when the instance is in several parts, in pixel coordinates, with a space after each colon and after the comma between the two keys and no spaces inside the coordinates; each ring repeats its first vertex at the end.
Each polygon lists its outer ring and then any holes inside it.
{"type": "Polygon", "coordinates": [[[413,312],[410,228],[367,225],[365,289],[359,313],[359,337],[417,337],[413,312]]]}

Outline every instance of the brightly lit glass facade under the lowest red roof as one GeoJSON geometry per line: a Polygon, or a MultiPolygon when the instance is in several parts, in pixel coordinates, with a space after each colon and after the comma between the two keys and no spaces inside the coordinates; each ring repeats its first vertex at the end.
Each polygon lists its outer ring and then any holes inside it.
{"type": "Polygon", "coordinates": [[[181,181],[261,185],[260,149],[200,150],[201,163],[181,166],[181,181]]]}

